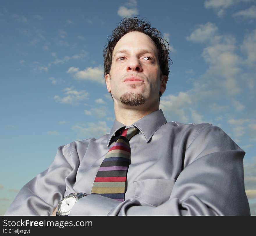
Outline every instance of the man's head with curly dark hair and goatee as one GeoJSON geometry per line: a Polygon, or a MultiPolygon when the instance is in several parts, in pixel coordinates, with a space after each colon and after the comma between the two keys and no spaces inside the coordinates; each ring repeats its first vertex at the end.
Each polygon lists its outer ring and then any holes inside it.
{"type": "Polygon", "coordinates": [[[158,90],[159,101],[165,90],[171,61],[168,56],[169,46],[166,48],[166,41],[161,37],[161,33],[137,17],[123,19],[112,33],[104,49],[104,78],[112,97],[114,98],[114,92],[121,89],[118,99],[123,104],[136,106],[143,104],[145,99],[152,98],[158,90]],[[130,80],[125,81],[128,77],[130,80]],[[115,79],[115,91],[111,79],[115,79]],[[157,79],[156,85],[153,79],[157,79]],[[124,82],[126,87],[118,87],[116,82],[119,81],[124,82]],[[143,90],[146,89],[150,90],[150,93],[144,96],[143,90]]]}

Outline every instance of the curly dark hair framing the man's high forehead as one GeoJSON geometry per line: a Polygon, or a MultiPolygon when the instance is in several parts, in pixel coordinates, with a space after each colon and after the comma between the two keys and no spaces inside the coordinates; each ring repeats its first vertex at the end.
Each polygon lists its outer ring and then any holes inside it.
{"type": "MultiPolygon", "coordinates": [[[[124,18],[118,24],[118,27],[112,31],[112,35],[108,37],[108,43],[106,43],[103,57],[104,57],[104,79],[106,74],[109,74],[112,64],[112,54],[115,45],[119,41],[121,37],[125,34],[138,31],[148,35],[154,42],[155,46],[158,49],[158,59],[161,69],[161,75],[169,75],[169,67],[171,66],[170,62],[172,60],[169,57],[169,44],[163,38],[161,33],[156,29],[152,28],[150,22],[144,19],[138,19],[138,17],[134,18],[124,18]],[[166,47],[167,45],[167,47],[166,47]]],[[[160,94],[161,96],[161,94],[160,94]]]]}

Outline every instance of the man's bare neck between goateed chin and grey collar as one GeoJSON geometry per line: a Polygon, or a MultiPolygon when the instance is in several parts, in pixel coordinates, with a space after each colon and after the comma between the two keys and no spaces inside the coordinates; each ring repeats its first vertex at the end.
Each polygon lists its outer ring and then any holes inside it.
{"type": "Polygon", "coordinates": [[[139,107],[116,107],[114,105],[115,110],[115,118],[117,121],[121,122],[122,124],[129,126],[132,125],[137,120],[147,116],[148,114],[159,110],[159,108],[155,107],[152,109],[140,109],[139,107]]]}

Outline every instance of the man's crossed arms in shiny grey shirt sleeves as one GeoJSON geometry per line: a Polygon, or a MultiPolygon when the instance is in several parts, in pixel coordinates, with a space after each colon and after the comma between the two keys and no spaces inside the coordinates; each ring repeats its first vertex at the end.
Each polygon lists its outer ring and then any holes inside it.
{"type": "MultiPolygon", "coordinates": [[[[49,169],[22,188],[6,215],[56,214],[70,184],[67,176],[74,177],[79,167],[68,159],[68,149],[68,145],[58,149],[49,169]],[[57,173],[60,178],[55,178],[57,173]],[[42,199],[41,191],[49,194],[42,199]]],[[[120,203],[88,195],[77,201],[70,215],[250,215],[243,180],[244,154],[221,129],[209,127],[184,150],[184,168],[162,204],[145,205],[139,198],[120,203]],[[202,141],[204,149],[200,148],[202,141]]],[[[154,194],[157,197],[161,192],[154,194]]]]}

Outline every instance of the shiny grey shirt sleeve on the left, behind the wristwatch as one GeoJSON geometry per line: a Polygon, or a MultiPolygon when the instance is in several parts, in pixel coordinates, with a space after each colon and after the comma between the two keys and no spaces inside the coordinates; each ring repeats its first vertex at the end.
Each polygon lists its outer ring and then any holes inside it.
{"type": "Polygon", "coordinates": [[[22,187],[5,215],[51,215],[75,179],[78,164],[70,158],[69,144],[59,147],[49,168],[22,187]]]}

